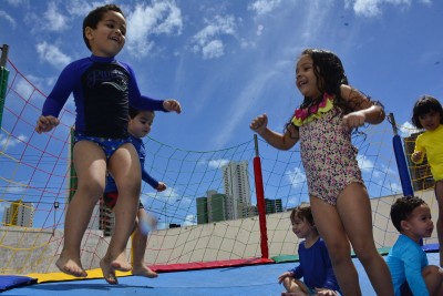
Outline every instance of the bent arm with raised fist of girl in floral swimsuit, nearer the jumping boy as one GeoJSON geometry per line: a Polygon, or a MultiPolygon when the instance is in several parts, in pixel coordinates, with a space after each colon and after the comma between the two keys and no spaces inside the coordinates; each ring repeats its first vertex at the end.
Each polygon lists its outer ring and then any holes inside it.
{"type": "Polygon", "coordinates": [[[266,114],[259,115],[253,120],[249,127],[258,133],[271,146],[279,150],[291,149],[299,140],[298,130],[290,124],[285,134],[274,132],[268,129],[268,116],[266,114]]]}

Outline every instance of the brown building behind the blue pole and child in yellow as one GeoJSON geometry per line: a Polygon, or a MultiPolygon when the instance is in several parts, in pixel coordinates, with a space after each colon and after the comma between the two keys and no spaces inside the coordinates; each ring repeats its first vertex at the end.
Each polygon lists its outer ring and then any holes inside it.
{"type": "Polygon", "coordinates": [[[435,181],[431,173],[431,166],[427,163],[427,159],[424,157],[421,164],[414,164],[411,161],[411,154],[414,152],[415,147],[415,139],[421,133],[413,133],[408,137],[403,139],[404,142],[404,151],[405,159],[408,162],[409,173],[411,175],[412,187],[414,191],[422,191],[432,188],[435,184],[435,181]]]}

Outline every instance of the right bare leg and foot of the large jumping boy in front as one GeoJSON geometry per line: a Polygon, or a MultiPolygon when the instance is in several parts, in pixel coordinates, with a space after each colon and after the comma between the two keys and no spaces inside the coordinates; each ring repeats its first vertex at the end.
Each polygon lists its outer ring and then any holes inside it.
{"type": "Polygon", "coordinates": [[[109,171],[117,184],[119,200],[114,207],[114,233],[100,266],[105,280],[117,284],[115,271],[132,269],[125,249],[135,223],[142,182],[138,155],[132,144],[117,149],[109,161],[109,171]]]}

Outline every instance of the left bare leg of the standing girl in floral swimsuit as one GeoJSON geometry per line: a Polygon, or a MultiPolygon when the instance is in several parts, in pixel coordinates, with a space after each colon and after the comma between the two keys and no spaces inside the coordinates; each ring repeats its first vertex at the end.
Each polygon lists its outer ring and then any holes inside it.
{"type": "Polygon", "coordinates": [[[361,296],[359,276],[351,259],[351,248],[337,206],[310,197],[313,221],[323,238],[342,295],[361,296]]]}

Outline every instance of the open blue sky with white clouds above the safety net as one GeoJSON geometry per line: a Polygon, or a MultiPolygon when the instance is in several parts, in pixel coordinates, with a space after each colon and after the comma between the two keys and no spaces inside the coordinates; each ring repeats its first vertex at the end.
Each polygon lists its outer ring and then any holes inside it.
{"type": "MultiPolygon", "coordinates": [[[[69,62],[90,55],[82,21],[105,2],[0,3],[0,43],[10,47],[9,59],[20,72],[48,94],[69,62]]],[[[183,105],[179,115],[157,113],[151,133],[173,147],[212,151],[244,143],[253,139],[251,119],[261,113],[271,129],[282,131],[301,102],[293,64],[306,48],[336,52],[350,84],[380,100],[405,132],[411,132],[419,95],[443,100],[440,0],[115,3],[127,19],[126,45],[117,59],[133,67],[144,94],[175,98],[183,105]]],[[[41,106],[44,98],[34,100],[41,106]]],[[[66,108],[73,110],[73,103],[66,108]]],[[[73,114],[65,113],[63,121],[69,125],[73,114]]],[[[66,139],[65,130],[55,133],[66,139]]],[[[289,173],[298,175],[296,169],[289,173]]]]}

